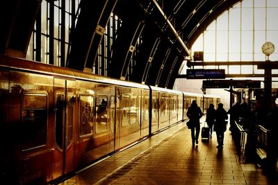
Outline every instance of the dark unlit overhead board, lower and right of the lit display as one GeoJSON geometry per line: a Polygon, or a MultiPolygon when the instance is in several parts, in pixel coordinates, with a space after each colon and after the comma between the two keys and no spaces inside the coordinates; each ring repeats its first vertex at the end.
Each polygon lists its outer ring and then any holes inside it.
{"type": "Polygon", "coordinates": [[[203,88],[261,88],[260,80],[203,80],[203,88]]]}

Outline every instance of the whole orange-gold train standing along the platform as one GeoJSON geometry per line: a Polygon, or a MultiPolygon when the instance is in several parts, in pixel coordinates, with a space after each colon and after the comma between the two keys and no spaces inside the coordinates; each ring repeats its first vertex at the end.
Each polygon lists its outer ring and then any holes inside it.
{"type": "MultiPolygon", "coordinates": [[[[0,55],[0,182],[52,184],[185,121],[218,96],[0,55]]],[[[5,183],[4,183],[5,184],[5,183]]]]}

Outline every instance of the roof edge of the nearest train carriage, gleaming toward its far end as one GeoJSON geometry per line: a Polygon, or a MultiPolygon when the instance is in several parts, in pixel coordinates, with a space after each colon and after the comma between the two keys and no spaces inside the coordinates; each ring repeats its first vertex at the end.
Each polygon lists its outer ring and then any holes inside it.
{"type": "Polygon", "coordinates": [[[136,82],[129,82],[125,80],[99,76],[91,73],[85,73],[83,71],[77,71],[65,67],[57,67],[51,64],[44,64],[41,62],[35,62],[6,55],[0,55],[0,67],[6,67],[9,69],[15,69],[19,71],[26,71],[32,73],[41,73],[49,76],[60,76],[69,79],[74,78],[78,80],[149,89],[148,85],[142,85],[136,82]]]}

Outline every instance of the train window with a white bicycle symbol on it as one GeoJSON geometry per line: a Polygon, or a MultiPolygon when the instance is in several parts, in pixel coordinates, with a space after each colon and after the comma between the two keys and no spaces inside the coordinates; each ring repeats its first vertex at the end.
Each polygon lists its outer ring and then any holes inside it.
{"type": "Polygon", "coordinates": [[[79,135],[91,135],[94,115],[94,96],[80,94],[79,96],[79,135]]]}

